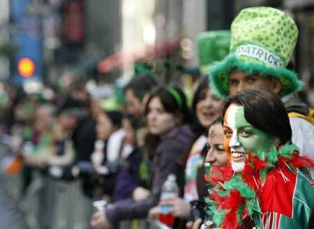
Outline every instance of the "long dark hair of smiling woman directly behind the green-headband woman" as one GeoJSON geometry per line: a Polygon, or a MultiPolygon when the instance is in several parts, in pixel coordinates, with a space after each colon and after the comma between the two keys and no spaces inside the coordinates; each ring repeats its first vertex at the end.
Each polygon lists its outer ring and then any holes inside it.
{"type": "Polygon", "coordinates": [[[193,96],[193,103],[192,103],[192,112],[193,112],[193,121],[191,125],[192,131],[197,135],[197,138],[199,135],[207,134],[207,128],[205,126],[202,126],[200,124],[200,121],[197,119],[196,114],[196,105],[198,102],[200,102],[202,99],[203,91],[207,91],[209,89],[209,80],[208,77],[205,76],[200,80],[200,84],[198,85],[197,89],[195,90],[195,94],[193,96]]]}

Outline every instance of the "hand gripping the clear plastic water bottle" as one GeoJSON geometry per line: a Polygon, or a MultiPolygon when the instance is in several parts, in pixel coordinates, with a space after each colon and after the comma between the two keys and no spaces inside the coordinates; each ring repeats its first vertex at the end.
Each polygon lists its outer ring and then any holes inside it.
{"type": "Polygon", "coordinates": [[[188,219],[188,216],[190,216],[190,204],[182,198],[176,197],[160,200],[158,205],[172,205],[172,215],[176,218],[188,219]]]}

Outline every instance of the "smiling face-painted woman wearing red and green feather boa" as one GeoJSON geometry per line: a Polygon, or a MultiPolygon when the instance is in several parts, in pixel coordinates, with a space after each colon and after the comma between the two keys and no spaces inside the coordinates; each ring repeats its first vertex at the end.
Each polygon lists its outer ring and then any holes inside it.
{"type": "Polygon", "coordinates": [[[306,228],[314,205],[310,158],[291,143],[281,99],[247,89],[223,103],[231,166],[211,189],[209,212],[220,228],[306,228]]]}

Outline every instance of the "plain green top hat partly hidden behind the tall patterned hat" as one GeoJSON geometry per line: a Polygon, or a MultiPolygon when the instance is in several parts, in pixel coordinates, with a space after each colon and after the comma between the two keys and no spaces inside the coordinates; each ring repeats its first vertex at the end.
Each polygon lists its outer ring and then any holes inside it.
{"type": "Polygon", "coordinates": [[[206,68],[221,61],[229,54],[230,31],[207,31],[197,35],[197,48],[200,57],[200,71],[206,73],[206,68]]]}

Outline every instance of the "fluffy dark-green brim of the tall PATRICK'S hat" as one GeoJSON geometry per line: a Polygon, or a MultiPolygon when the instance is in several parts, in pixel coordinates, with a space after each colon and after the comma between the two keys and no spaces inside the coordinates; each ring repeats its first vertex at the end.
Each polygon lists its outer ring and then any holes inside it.
{"type": "Polygon", "coordinates": [[[261,77],[267,75],[276,77],[281,82],[281,91],[279,91],[279,96],[281,97],[294,91],[299,91],[304,84],[304,82],[298,79],[296,73],[287,68],[274,68],[250,57],[240,59],[236,55],[230,54],[223,61],[217,62],[214,66],[208,68],[211,88],[214,89],[218,96],[229,96],[228,73],[234,68],[244,71],[248,75],[258,73],[261,77]]]}

